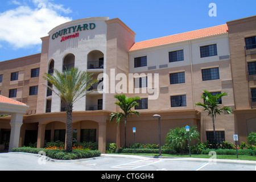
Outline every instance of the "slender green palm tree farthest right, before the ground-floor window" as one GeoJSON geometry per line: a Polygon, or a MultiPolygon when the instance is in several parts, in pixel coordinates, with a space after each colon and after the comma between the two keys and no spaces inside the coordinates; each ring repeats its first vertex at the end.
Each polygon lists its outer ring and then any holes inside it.
{"type": "Polygon", "coordinates": [[[213,96],[210,92],[207,90],[204,90],[205,94],[201,95],[201,99],[204,100],[204,104],[201,102],[196,102],[196,106],[201,106],[204,108],[204,111],[208,112],[208,116],[212,118],[213,123],[213,136],[214,136],[214,143],[216,142],[216,134],[215,134],[215,118],[216,115],[220,115],[224,111],[226,111],[228,114],[232,114],[232,109],[230,107],[221,107],[220,108],[220,100],[223,96],[229,96],[228,93],[220,93],[216,94],[216,96],[213,96]]]}

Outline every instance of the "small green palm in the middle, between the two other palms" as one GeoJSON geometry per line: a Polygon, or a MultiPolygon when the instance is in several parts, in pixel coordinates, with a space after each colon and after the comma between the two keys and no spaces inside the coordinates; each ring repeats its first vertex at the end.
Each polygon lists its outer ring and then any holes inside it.
{"type": "Polygon", "coordinates": [[[116,117],[116,121],[119,125],[121,120],[125,118],[125,147],[126,147],[126,119],[128,116],[131,116],[131,114],[137,115],[139,117],[140,113],[138,111],[131,110],[134,106],[138,106],[138,100],[141,100],[140,97],[126,97],[125,95],[115,95],[114,98],[117,98],[119,102],[115,102],[116,105],[118,105],[122,111],[119,113],[112,113],[110,115],[110,122],[113,121],[113,119],[116,117]]]}

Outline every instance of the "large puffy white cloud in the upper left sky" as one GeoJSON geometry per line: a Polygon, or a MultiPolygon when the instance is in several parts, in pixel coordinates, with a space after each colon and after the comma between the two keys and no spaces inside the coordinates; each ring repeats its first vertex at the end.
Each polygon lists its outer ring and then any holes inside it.
{"type": "MultiPolygon", "coordinates": [[[[13,1],[18,5],[18,1],[13,1]]],[[[8,42],[14,49],[29,48],[42,43],[43,36],[59,24],[72,18],[61,15],[71,13],[63,5],[48,0],[32,0],[34,9],[26,4],[0,13],[0,43],[8,42]],[[61,11],[61,12],[60,12],[61,11]]],[[[2,44],[3,46],[3,44],[2,44]]]]}

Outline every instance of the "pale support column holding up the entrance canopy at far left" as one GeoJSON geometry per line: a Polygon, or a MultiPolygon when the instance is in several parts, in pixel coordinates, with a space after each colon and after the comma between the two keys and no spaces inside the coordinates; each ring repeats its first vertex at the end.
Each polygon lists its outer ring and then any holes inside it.
{"type": "Polygon", "coordinates": [[[20,137],[20,127],[23,123],[23,114],[22,113],[14,113],[11,114],[11,136],[10,136],[10,144],[9,144],[9,152],[13,148],[19,147],[19,137],[20,137]]]}

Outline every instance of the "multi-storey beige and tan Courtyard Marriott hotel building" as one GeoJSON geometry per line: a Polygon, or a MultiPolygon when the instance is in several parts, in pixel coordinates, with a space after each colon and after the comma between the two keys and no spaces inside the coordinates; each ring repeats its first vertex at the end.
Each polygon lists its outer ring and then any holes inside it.
{"type": "Polygon", "coordinates": [[[10,140],[9,150],[64,141],[65,104],[43,78],[54,74],[53,68],[77,67],[98,80],[97,91],[73,106],[73,139],[98,142],[103,153],[106,142],[124,144],[123,122],[109,122],[110,113],[120,111],[115,94],[142,98],[135,107],[141,115],[127,120],[127,144],[133,143],[133,127],[136,143],[158,143],[154,114],[161,115],[162,143],[170,129],[186,125],[197,126],[201,142],[212,142],[212,118],[195,106],[203,102],[203,90],[229,94],[220,106],[233,113],[215,122],[219,142],[233,142],[233,134],[246,142],[256,130],[256,16],[142,42],[135,42],[135,32],[118,18],[85,18],[61,24],[41,39],[41,53],[0,62],[0,114],[11,113],[0,118],[0,144],[10,140]],[[26,107],[26,113],[1,109],[6,102],[26,107]]]}

